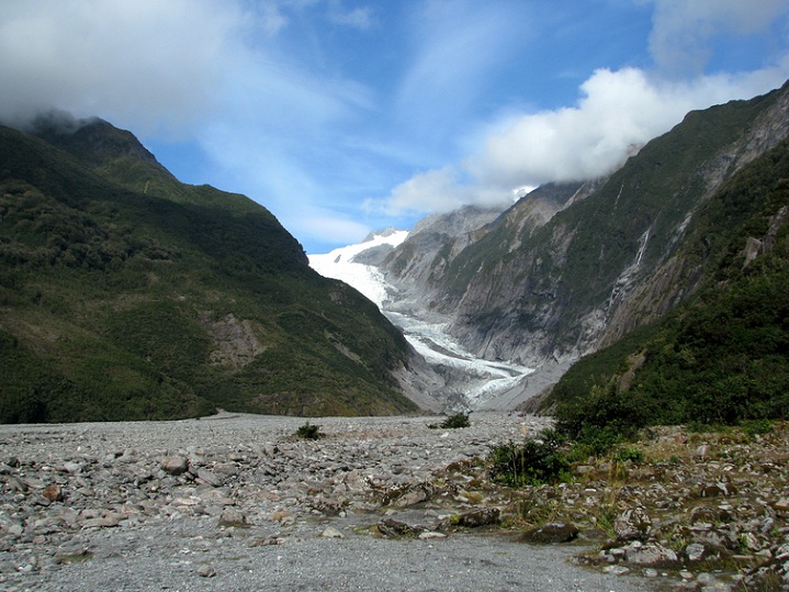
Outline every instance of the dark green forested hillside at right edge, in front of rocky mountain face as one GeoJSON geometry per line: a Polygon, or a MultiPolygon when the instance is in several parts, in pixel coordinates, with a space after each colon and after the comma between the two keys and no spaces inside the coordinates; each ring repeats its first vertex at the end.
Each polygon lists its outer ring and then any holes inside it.
{"type": "Polygon", "coordinates": [[[697,295],[578,361],[543,409],[575,431],[787,417],[789,143],[700,209],[679,256],[702,270],[697,295]]]}

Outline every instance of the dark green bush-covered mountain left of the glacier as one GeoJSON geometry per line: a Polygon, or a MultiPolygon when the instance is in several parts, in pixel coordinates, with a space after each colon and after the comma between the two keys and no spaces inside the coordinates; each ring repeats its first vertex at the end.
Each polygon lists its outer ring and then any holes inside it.
{"type": "Polygon", "coordinates": [[[0,127],[0,421],[415,411],[413,351],[244,196],[101,120],[0,127]]]}

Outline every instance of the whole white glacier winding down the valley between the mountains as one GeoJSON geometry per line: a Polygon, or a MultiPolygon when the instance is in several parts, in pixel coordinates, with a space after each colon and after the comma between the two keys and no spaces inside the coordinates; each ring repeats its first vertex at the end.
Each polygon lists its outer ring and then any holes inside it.
{"type": "Polygon", "coordinates": [[[408,236],[407,231],[375,233],[364,242],[334,249],[323,255],[309,255],[309,265],[327,278],[345,281],[373,301],[399,327],[408,342],[425,359],[453,376],[448,380],[448,400],[467,410],[500,409],[497,399],[515,388],[532,368],[504,361],[491,361],[466,351],[444,326],[422,319],[406,316],[387,310],[395,291],[386,283],[383,273],[371,265],[353,261],[353,257],[381,245],[396,247],[408,236]]]}

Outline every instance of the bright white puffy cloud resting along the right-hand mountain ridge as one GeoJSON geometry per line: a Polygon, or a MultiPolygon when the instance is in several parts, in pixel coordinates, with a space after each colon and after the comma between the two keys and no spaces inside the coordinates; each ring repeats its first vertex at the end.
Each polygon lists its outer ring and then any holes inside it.
{"type": "Polygon", "coordinates": [[[789,59],[749,75],[691,82],[652,80],[634,68],[598,70],[582,85],[576,107],[496,122],[462,172],[446,166],[416,175],[391,192],[386,206],[441,212],[465,203],[506,204],[514,187],[608,175],[688,111],[767,92],[787,77],[789,59]]]}

